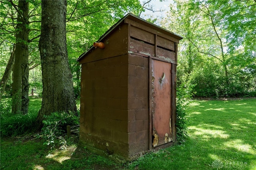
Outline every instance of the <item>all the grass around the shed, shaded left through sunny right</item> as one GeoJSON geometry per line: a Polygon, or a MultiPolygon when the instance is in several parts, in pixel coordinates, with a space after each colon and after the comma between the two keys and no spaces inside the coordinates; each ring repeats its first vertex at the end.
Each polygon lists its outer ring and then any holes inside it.
{"type": "Polygon", "coordinates": [[[1,138],[0,169],[256,170],[256,99],[194,100],[189,109],[186,141],[130,164],[116,164],[77,146],[78,136],[67,140],[67,150],[51,150],[26,135],[1,138]]]}

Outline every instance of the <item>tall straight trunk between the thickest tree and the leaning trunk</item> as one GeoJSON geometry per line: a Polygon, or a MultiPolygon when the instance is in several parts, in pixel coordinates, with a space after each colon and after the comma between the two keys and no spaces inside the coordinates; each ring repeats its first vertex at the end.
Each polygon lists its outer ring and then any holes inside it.
{"type": "Polygon", "coordinates": [[[12,113],[28,110],[28,2],[19,0],[17,18],[16,50],[12,83],[12,113]],[[22,92],[21,92],[22,90],[22,92]],[[27,91],[27,92],[26,92],[27,91]],[[27,95],[24,95],[27,93],[27,95]],[[27,108],[25,108],[27,107],[27,108]]]}

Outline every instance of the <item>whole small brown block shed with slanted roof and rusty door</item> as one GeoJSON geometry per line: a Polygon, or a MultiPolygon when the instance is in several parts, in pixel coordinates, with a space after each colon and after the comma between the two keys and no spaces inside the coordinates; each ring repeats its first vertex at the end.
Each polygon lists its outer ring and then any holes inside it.
{"type": "Polygon", "coordinates": [[[132,160],[176,141],[181,39],[127,14],[80,55],[80,143],[132,160]]]}

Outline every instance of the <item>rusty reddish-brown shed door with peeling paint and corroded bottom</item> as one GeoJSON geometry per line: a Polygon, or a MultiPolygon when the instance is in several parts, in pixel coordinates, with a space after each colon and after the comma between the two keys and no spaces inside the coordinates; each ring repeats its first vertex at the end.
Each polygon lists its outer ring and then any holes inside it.
{"type": "Polygon", "coordinates": [[[172,63],[150,59],[150,148],[172,141],[172,63]]]}

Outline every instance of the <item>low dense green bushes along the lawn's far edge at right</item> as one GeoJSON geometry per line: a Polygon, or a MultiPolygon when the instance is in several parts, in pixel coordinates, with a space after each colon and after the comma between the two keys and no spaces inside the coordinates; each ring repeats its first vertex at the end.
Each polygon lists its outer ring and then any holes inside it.
{"type": "MultiPolygon", "coordinates": [[[[238,60],[236,61],[238,62],[238,60]]],[[[253,68],[254,61],[246,61],[247,64],[242,65],[232,62],[229,69],[228,84],[226,83],[226,77],[220,74],[222,71],[221,65],[213,65],[213,61],[208,60],[204,62],[204,65],[199,65],[194,68],[190,73],[187,81],[190,84],[196,84],[193,87],[193,91],[196,92],[196,97],[248,97],[255,96],[256,93],[256,73],[253,68]]],[[[180,70],[178,70],[180,71],[180,70]]],[[[184,70],[183,70],[184,71],[184,70]]],[[[182,71],[181,71],[182,72],[182,71]]],[[[184,72],[183,72],[184,73],[184,72]]],[[[182,75],[184,77],[184,75],[182,75]]]]}

